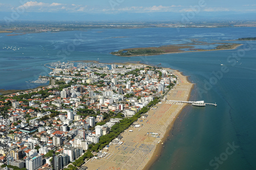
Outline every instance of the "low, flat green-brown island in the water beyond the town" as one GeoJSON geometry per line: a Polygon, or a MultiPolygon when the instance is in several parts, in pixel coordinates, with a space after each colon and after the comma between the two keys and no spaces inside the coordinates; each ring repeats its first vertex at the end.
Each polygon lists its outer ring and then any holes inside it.
{"type": "Polygon", "coordinates": [[[212,45],[216,43],[206,42],[192,42],[177,45],[163,45],[159,47],[138,47],[138,48],[125,48],[118,52],[112,52],[110,54],[120,57],[133,57],[133,56],[152,56],[171,53],[184,53],[184,52],[203,52],[214,50],[232,50],[242,44],[237,43],[217,43],[214,49],[205,50],[201,48],[195,48],[195,45],[212,45]]]}

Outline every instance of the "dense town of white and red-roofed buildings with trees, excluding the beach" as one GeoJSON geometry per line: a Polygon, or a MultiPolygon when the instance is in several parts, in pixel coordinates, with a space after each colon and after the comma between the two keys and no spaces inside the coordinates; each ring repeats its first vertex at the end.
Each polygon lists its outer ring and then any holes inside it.
{"type": "Polygon", "coordinates": [[[48,86],[0,95],[3,169],[76,170],[109,159],[120,134],[179,85],[172,70],[143,64],[46,66],[48,86]]]}

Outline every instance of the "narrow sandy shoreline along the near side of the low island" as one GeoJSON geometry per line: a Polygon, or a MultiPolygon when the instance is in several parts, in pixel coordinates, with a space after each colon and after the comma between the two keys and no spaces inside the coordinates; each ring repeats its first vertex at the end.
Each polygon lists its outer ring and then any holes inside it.
{"type": "Polygon", "coordinates": [[[194,52],[211,52],[211,51],[224,51],[224,50],[236,50],[239,46],[242,46],[244,44],[238,44],[230,49],[212,49],[212,50],[197,50],[197,51],[181,51],[181,52],[170,52],[170,53],[161,53],[161,54],[150,54],[150,55],[133,55],[133,56],[119,56],[119,55],[114,55],[117,57],[139,57],[139,56],[158,56],[158,55],[164,55],[164,54],[179,54],[179,53],[194,53],[194,52]]]}

